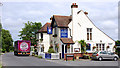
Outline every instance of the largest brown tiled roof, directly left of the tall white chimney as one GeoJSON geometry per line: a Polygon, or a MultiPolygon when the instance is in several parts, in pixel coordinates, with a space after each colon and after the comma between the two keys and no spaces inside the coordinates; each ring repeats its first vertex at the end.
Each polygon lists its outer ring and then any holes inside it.
{"type": "Polygon", "coordinates": [[[58,27],[68,27],[68,24],[71,22],[71,16],[53,15],[53,18],[58,27]]]}

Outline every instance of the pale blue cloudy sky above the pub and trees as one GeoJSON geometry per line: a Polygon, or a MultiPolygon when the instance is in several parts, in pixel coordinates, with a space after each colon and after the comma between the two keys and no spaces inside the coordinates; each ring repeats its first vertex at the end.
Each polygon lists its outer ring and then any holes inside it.
{"type": "Polygon", "coordinates": [[[112,39],[118,39],[118,0],[2,0],[0,15],[2,26],[9,30],[14,41],[19,40],[19,31],[27,21],[50,22],[53,15],[71,15],[71,4],[78,10],[88,12],[91,21],[112,39]]]}

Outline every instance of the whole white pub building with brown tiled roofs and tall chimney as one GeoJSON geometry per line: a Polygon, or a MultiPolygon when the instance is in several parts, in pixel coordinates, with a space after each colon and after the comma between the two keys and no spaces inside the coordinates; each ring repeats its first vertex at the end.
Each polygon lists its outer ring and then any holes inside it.
{"type": "Polygon", "coordinates": [[[70,16],[53,15],[51,22],[36,34],[38,53],[48,52],[49,47],[53,46],[60,58],[65,59],[66,54],[82,57],[80,40],[87,43],[86,52],[90,56],[94,51],[114,52],[115,41],[96,27],[87,15],[88,12],[78,10],[76,3],[71,5],[70,16]]]}

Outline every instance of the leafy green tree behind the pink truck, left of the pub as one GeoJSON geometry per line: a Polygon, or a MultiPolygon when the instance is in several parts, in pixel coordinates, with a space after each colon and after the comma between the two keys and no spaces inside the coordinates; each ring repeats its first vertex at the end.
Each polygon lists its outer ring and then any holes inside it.
{"type": "Polygon", "coordinates": [[[19,31],[20,39],[22,40],[30,40],[31,45],[36,44],[36,32],[41,29],[42,24],[40,22],[27,22],[25,23],[25,27],[22,28],[22,31],[19,31]]]}

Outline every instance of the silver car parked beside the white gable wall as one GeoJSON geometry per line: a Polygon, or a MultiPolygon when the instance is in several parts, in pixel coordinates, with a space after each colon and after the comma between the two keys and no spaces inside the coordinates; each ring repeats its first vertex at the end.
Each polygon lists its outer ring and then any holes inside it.
{"type": "Polygon", "coordinates": [[[117,61],[119,59],[119,56],[113,52],[109,51],[95,51],[92,54],[92,59],[97,59],[99,61],[102,61],[103,59],[112,59],[114,61],[117,61]]]}

